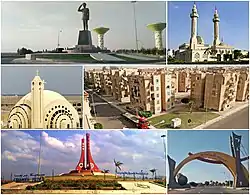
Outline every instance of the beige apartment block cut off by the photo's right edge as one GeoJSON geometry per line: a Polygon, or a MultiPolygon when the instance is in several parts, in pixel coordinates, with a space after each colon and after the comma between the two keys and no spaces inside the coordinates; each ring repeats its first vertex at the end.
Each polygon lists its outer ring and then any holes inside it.
{"type": "Polygon", "coordinates": [[[249,72],[240,72],[237,86],[237,101],[249,100],[249,72]]]}

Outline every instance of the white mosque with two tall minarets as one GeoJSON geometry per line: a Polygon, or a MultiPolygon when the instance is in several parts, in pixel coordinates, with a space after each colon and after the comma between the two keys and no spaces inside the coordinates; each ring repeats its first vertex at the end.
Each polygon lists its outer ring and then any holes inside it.
{"type": "Polygon", "coordinates": [[[198,11],[196,4],[193,5],[191,18],[191,36],[189,43],[183,43],[175,53],[175,58],[184,62],[205,62],[205,61],[229,61],[233,59],[234,48],[220,41],[219,38],[219,14],[215,8],[214,38],[212,45],[205,44],[201,36],[197,35],[198,11]]]}

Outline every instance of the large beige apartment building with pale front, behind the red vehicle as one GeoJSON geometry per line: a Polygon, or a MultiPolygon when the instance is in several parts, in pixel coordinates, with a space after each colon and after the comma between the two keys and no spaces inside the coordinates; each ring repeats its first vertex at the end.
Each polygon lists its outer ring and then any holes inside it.
{"type": "Polygon", "coordinates": [[[171,74],[155,71],[152,74],[130,75],[130,103],[135,109],[151,111],[154,114],[174,106],[171,74]]]}

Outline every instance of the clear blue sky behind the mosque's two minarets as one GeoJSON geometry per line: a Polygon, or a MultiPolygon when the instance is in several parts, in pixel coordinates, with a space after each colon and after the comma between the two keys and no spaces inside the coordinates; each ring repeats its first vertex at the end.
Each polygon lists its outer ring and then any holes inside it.
{"type": "MultiPolygon", "coordinates": [[[[198,35],[206,44],[213,41],[213,14],[215,6],[220,17],[220,39],[235,48],[249,49],[249,6],[248,2],[196,1],[198,9],[198,35]]],[[[192,1],[168,2],[168,48],[177,49],[189,43],[190,13],[192,1]]]]}

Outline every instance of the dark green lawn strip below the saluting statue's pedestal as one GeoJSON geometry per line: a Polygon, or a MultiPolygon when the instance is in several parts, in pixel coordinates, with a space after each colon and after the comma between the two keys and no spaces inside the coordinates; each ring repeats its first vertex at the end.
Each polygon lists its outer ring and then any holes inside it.
{"type": "Polygon", "coordinates": [[[55,60],[84,60],[84,61],[95,61],[90,54],[50,54],[38,56],[41,58],[55,59],[55,60]]]}

